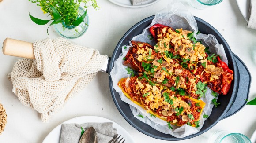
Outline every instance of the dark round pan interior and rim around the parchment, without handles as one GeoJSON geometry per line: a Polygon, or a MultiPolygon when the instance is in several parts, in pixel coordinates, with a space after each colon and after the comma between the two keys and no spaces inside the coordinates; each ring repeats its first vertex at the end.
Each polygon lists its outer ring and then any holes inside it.
{"type": "MultiPolygon", "coordinates": [[[[119,57],[121,54],[121,47],[123,45],[128,45],[129,41],[132,40],[132,37],[139,35],[142,33],[143,29],[145,29],[147,26],[149,26],[154,18],[154,15],[146,18],[140,22],[138,22],[135,26],[133,26],[131,29],[128,30],[127,33],[124,34],[124,36],[121,38],[119,43],[117,44],[117,47],[115,48],[110,65],[109,65],[109,73],[111,69],[114,66],[114,61],[119,57]]],[[[204,34],[213,34],[217,38],[218,42],[223,44],[226,52],[226,56],[229,63],[229,67],[231,70],[234,71],[234,80],[231,84],[230,91],[228,92],[227,95],[220,95],[218,97],[219,103],[221,103],[218,108],[213,107],[212,113],[210,117],[204,122],[203,128],[200,130],[200,132],[184,137],[184,138],[175,138],[169,134],[164,134],[162,132],[159,132],[155,130],[154,128],[151,128],[149,125],[144,124],[143,122],[139,121],[136,119],[127,103],[124,103],[120,99],[120,95],[113,89],[113,82],[111,80],[111,77],[109,76],[109,86],[110,86],[110,91],[113,96],[114,103],[117,106],[117,109],[120,111],[122,116],[125,118],[126,121],[128,121],[129,124],[131,124],[134,128],[139,130],[140,132],[146,134],[147,136],[151,136],[157,139],[163,139],[163,140],[183,140],[183,139],[189,139],[195,136],[198,136],[202,134],[203,132],[206,132],[210,128],[212,128],[218,121],[222,119],[222,117],[226,114],[226,112],[230,109],[230,106],[233,104],[235,96],[237,95],[237,87],[239,81],[238,76],[237,76],[237,65],[235,60],[233,59],[232,52],[230,50],[229,45],[226,43],[226,40],[221,36],[218,31],[212,27],[210,24],[207,22],[203,21],[200,18],[195,17],[196,22],[198,24],[198,29],[200,30],[200,33],[204,34]]]]}

